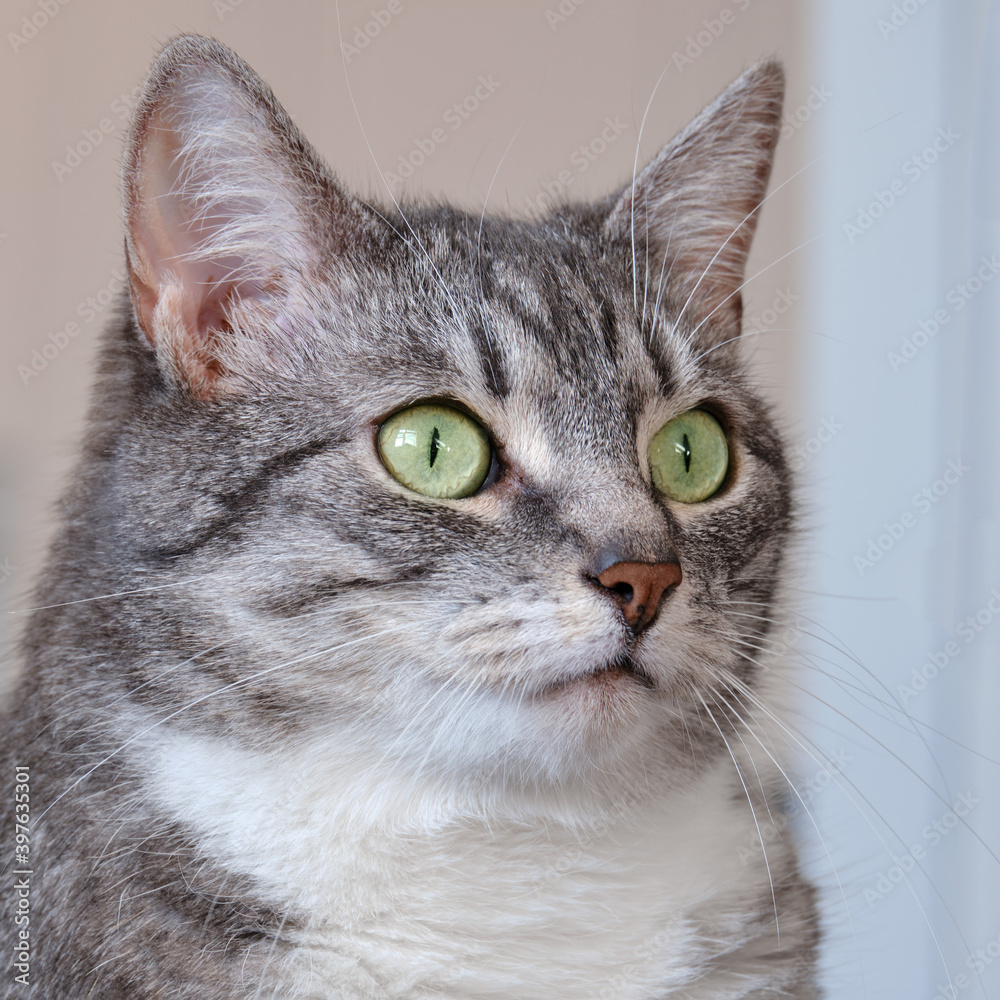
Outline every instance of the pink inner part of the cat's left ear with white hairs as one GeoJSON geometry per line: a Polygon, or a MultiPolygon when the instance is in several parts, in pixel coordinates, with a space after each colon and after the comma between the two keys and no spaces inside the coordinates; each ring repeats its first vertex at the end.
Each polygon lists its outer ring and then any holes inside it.
{"type": "Polygon", "coordinates": [[[266,302],[280,313],[275,298],[292,289],[278,290],[275,279],[315,257],[287,147],[211,66],[173,81],[131,141],[126,209],[139,325],[158,350],[157,326],[168,325],[183,338],[186,360],[208,361],[206,349],[239,303],[266,302]],[[161,304],[169,315],[157,319],[161,304]]]}

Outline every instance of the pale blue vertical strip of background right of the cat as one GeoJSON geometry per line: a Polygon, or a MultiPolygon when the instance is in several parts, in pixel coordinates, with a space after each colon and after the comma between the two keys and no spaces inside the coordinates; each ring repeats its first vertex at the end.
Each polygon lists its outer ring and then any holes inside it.
{"type": "Polygon", "coordinates": [[[810,801],[837,1000],[1000,997],[990,6],[816,5],[813,82],[833,96],[807,175],[825,235],[803,262],[803,706],[818,756],[841,762],[810,801]]]}

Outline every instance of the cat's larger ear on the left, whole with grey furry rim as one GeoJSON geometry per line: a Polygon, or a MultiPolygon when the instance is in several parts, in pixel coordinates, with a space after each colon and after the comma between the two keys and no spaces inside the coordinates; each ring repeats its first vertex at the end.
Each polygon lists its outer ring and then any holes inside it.
{"type": "Polygon", "coordinates": [[[309,353],[320,276],[368,216],[239,56],[196,35],[160,53],[122,190],[132,304],[168,381],[210,398],[309,353]]]}

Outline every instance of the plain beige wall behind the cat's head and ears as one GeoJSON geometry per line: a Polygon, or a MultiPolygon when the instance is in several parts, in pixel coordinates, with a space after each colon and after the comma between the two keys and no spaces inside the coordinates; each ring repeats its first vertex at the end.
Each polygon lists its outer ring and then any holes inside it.
{"type": "MultiPolygon", "coordinates": [[[[640,161],[761,56],[785,61],[789,108],[801,105],[815,82],[807,83],[803,72],[805,7],[792,0],[342,0],[344,41],[359,43],[356,52],[342,54],[338,8],[326,0],[6,0],[0,14],[0,603],[30,605],[49,509],[80,433],[106,313],[101,301],[121,265],[117,186],[126,104],[171,35],[202,32],[233,46],[360,192],[384,198],[375,163],[398,172],[400,157],[420,142],[427,149],[441,128],[445,141],[414,170],[407,191],[479,209],[492,183],[490,208],[525,212],[560,174],[570,179],[567,193],[574,197],[603,194],[628,179],[651,95],[640,161]],[[491,81],[481,93],[491,92],[456,119],[449,109],[474,93],[480,77],[491,81]],[[596,140],[608,119],[615,123],[608,134],[616,135],[602,151],[596,140]],[[581,159],[581,145],[591,148],[592,159],[581,159]],[[79,333],[61,337],[72,322],[79,333]],[[47,348],[55,356],[42,371],[25,375],[34,351],[60,341],[64,347],[47,348]]],[[[809,123],[786,133],[775,185],[807,159],[809,123]]],[[[769,204],[751,273],[805,239],[800,193],[793,182],[769,204]]],[[[797,294],[798,260],[793,254],[751,284],[751,322],[762,313],[773,318],[766,310],[779,293],[797,294]]],[[[776,325],[797,330],[794,311],[776,325]]],[[[797,336],[777,332],[755,341],[762,376],[789,414],[794,436],[797,336]]],[[[3,638],[16,620],[5,617],[3,638]]]]}

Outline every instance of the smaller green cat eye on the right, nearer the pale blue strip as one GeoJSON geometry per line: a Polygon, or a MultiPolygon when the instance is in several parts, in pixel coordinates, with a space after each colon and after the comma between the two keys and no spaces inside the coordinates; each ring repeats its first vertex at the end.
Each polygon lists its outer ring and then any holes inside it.
{"type": "Polygon", "coordinates": [[[707,500],[726,478],[729,445],[719,421],[704,410],[688,410],[661,427],[649,443],[656,488],[671,500],[707,500]]]}

